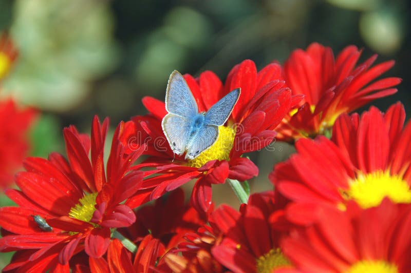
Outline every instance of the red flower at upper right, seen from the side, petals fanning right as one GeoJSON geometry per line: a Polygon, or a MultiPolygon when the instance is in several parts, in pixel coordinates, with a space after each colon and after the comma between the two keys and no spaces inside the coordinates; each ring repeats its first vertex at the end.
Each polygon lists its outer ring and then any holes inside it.
{"type": "Polygon", "coordinates": [[[317,134],[328,135],[335,120],[380,97],[397,92],[401,82],[387,77],[370,83],[394,66],[394,61],[371,65],[373,55],[356,67],[362,50],[348,46],[334,59],[331,48],[311,44],[294,50],[284,64],[284,78],[293,94],[304,95],[303,105],[291,111],[277,128],[277,139],[292,142],[317,134]]]}

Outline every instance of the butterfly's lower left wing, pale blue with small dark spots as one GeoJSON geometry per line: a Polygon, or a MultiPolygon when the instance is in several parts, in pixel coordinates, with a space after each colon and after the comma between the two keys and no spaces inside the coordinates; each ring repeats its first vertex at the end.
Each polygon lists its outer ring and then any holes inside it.
{"type": "Polygon", "coordinates": [[[161,127],[173,152],[178,155],[183,154],[191,132],[189,120],[169,113],[164,116],[161,127]]]}

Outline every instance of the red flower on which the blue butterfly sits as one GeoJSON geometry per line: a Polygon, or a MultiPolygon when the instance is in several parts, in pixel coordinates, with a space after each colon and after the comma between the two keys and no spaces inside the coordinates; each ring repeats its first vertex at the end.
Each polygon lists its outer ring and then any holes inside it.
{"type": "MultiPolygon", "coordinates": [[[[245,181],[258,174],[258,168],[241,155],[264,148],[272,142],[273,131],[285,114],[296,105],[301,97],[291,96],[291,91],[279,81],[281,67],[270,64],[257,72],[255,64],[246,60],[236,65],[228,75],[225,85],[211,71],[200,74],[198,79],[184,75],[199,111],[207,111],[229,91],[241,88],[241,94],[225,126],[219,127],[217,141],[194,160],[175,157],[161,129],[161,120],[166,114],[163,102],[145,97],[144,106],[150,114],[136,116],[133,121],[138,127],[133,143],[147,143],[148,158],[138,168],[154,167],[145,175],[147,189],[140,196],[157,199],[166,191],[197,179],[192,192],[192,204],[198,210],[207,211],[211,205],[211,185],[225,183],[226,179],[245,181]]],[[[133,206],[134,199],[129,200],[133,206]]]]}

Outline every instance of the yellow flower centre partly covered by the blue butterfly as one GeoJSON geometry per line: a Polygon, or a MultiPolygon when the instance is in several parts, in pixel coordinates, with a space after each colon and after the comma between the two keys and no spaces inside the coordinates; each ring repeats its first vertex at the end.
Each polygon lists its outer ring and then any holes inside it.
{"type": "Polygon", "coordinates": [[[218,127],[218,138],[210,148],[203,151],[193,160],[189,160],[189,166],[199,168],[211,160],[229,160],[233,148],[235,129],[226,126],[218,127]]]}

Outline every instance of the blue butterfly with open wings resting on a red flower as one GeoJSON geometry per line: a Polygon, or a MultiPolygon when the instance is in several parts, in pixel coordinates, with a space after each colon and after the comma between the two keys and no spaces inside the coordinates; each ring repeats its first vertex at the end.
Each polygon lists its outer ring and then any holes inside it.
{"type": "Polygon", "coordinates": [[[174,70],[165,92],[167,114],[161,121],[164,135],[175,154],[195,159],[218,138],[218,126],[226,123],[240,96],[234,89],[207,112],[198,112],[197,103],[184,77],[174,70]]]}

